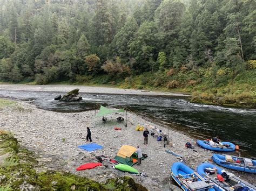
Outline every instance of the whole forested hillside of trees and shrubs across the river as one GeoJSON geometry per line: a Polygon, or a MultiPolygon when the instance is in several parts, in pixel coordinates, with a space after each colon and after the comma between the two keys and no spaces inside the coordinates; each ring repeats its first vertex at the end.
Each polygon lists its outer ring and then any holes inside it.
{"type": "Polygon", "coordinates": [[[255,0],[0,0],[0,9],[0,81],[255,105],[255,0]]]}

